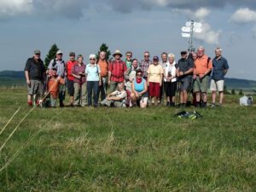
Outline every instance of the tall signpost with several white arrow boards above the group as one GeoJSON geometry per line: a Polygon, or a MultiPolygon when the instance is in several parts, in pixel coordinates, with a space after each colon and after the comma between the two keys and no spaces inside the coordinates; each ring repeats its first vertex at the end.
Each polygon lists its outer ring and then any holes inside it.
{"type": "Polygon", "coordinates": [[[200,22],[194,22],[194,20],[187,21],[185,26],[181,28],[182,30],[182,37],[189,38],[189,52],[195,51],[193,47],[193,33],[202,32],[202,24],[200,22]]]}

